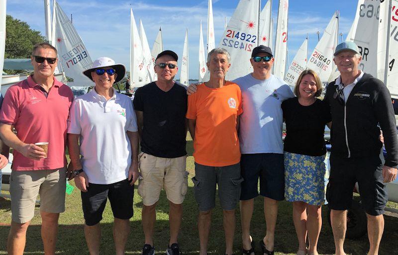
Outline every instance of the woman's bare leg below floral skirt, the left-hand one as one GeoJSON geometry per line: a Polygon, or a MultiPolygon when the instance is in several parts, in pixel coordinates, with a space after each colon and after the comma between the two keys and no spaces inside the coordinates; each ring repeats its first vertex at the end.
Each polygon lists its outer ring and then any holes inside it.
{"type": "Polygon", "coordinates": [[[298,250],[306,251],[305,240],[307,237],[307,203],[298,201],[293,202],[293,222],[295,223],[296,234],[298,239],[298,250]]]}

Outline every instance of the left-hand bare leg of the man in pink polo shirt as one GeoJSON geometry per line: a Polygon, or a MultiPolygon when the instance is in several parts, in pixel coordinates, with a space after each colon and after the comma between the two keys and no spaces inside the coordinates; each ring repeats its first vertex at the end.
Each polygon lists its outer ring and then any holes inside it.
{"type": "Polygon", "coordinates": [[[26,230],[30,221],[16,223],[11,221],[11,228],[8,233],[7,253],[9,255],[22,255],[25,250],[26,230]]]}

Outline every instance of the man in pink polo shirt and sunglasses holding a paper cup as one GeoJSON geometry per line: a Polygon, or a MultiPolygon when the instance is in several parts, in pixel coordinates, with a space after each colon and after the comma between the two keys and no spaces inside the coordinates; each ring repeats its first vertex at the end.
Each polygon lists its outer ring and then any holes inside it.
{"type": "Polygon", "coordinates": [[[34,73],[7,90],[0,112],[1,139],[14,149],[7,241],[8,254],[13,255],[23,254],[37,194],[45,254],[55,253],[58,217],[65,210],[66,128],[73,93],[54,77],[58,60],[53,46],[34,46],[31,63],[34,73]],[[44,150],[34,145],[37,142],[49,143],[47,158],[44,150]]]}

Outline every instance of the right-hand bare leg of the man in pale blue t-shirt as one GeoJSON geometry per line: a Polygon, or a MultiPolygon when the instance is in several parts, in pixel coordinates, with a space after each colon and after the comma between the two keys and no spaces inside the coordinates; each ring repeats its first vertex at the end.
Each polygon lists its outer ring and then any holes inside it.
{"type": "Polygon", "coordinates": [[[263,239],[265,248],[272,252],[274,251],[275,240],[275,226],[278,217],[278,201],[269,197],[264,197],[264,215],[267,224],[267,232],[263,239]]]}

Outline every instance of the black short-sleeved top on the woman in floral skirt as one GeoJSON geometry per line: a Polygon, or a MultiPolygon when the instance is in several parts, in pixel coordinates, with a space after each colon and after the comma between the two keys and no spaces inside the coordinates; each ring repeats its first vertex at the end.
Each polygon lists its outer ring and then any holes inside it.
{"type": "Polygon", "coordinates": [[[331,121],[327,105],[316,99],[312,105],[302,106],[294,97],[282,103],[282,110],[286,123],[284,150],[308,156],[326,154],[323,133],[331,121]]]}

